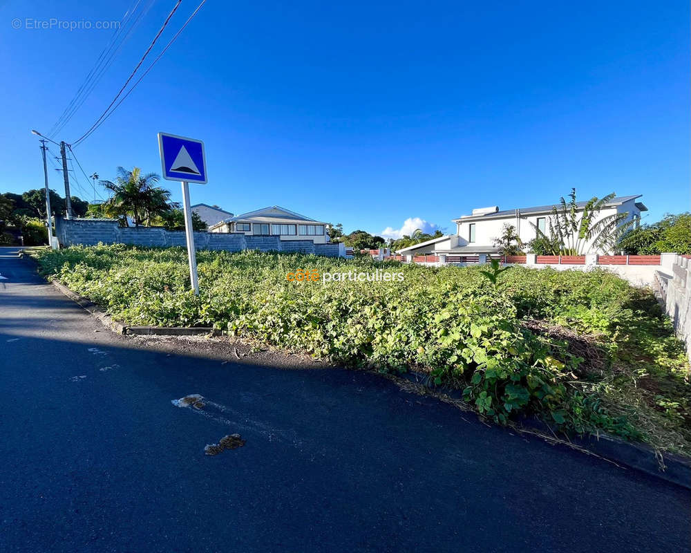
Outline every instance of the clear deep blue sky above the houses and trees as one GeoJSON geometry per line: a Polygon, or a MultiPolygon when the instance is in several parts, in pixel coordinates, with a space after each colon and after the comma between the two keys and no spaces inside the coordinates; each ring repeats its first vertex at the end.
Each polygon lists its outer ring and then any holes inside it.
{"type": "MultiPolygon", "coordinates": [[[[24,21],[118,20],[131,3],[0,1],[0,191],[43,185],[30,129],[48,132],[112,32],[24,21]]],[[[58,141],[93,124],[174,3],[153,2],[58,141]]],[[[197,3],[182,0],[153,55],[197,3]]],[[[102,178],[160,173],[158,131],[200,138],[209,183],[193,203],[276,204],[346,231],[451,231],[473,207],[571,187],[643,194],[656,221],[691,207],[688,21],[686,1],[209,0],[75,153],[102,178]]]]}

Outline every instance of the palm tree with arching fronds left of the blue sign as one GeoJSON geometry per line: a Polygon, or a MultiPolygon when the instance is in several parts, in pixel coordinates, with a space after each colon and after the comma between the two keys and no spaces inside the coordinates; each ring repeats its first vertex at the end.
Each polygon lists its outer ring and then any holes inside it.
{"type": "Polygon", "coordinates": [[[115,182],[100,181],[106,189],[113,192],[113,196],[104,204],[106,213],[111,216],[131,215],[135,227],[144,222],[151,226],[155,216],[178,207],[177,203],[171,202],[169,190],[156,186],[159,180],[160,177],[155,173],[142,176],[139,167],[132,171],[118,167],[115,182]]]}

